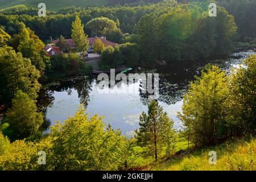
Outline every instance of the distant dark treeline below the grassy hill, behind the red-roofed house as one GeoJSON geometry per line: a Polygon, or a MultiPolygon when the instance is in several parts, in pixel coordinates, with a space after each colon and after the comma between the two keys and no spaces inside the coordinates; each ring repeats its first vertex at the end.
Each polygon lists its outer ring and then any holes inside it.
{"type": "MultiPolygon", "coordinates": [[[[0,15],[0,24],[5,26],[6,32],[10,35],[16,34],[16,20],[25,23],[31,30],[35,31],[43,40],[52,38],[59,38],[60,35],[64,37],[71,37],[71,23],[75,20],[75,13],[79,13],[82,23],[86,24],[93,18],[104,16],[106,18],[120,21],[120,28],[122,32],[135,33],[135,24],[138,22],[142,15],[151,13],[152,11],[163,9],[167,4],[156,4],[147,6],[117,6],[117,7],[88,7],[80,9],[76,7],[60,9],[57,14],[49,14],[45,18],[40,18],[35,14],[30,16],[27,14],[22,15],[0,15]]],[[[170,3],[174,5],[174,3],[170,3]]],[[[167,5],[166,9],[168,9],[167,5]]],[[[85,27],[86,31],[86,27],[85,27]]],[[[87,30],[88,31],[88,30],[87,30]]],[[[90,32],[86,32],[90,35],[90,32]]]]}

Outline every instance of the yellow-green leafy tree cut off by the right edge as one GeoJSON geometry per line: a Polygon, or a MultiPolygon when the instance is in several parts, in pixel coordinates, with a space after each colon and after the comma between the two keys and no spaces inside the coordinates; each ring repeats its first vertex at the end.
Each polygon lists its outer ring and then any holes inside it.
{"type": "Polygon", "coordinates": [[[230,134],[255,133],[256,130],[256,55],[229,76],[229,98],[226,100],[226,120],[230,134]]]}

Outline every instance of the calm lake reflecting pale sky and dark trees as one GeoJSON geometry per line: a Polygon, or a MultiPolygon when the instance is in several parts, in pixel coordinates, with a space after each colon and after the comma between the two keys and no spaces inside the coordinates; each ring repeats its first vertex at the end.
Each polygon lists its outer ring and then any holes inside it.
{"type": "MultiPolygon", "coordinates": [[[[238,67],[242,60],[249,55],[256,54],[253,50],[236,52],[228,59],[210,61],[228,73],[238,67]]],[[[170,118],[175,121],[175,128],[182,129],[182,123],[176,117],[181,111],[182,98],[188,89],[188,84],[195,75],[200,75],[208,61],[176,63],[164,67],[134,68],[129,73],[158,73],[159,95],[158,101],[170,118]]],[[[128,73],[127,73],[128,74],[128,73]]],[[[110,93],[101,93],[98,89],[97,77],[76,76],[63,81],[51,82],[43,85],[38,98],[38,106],[51,125],[56,120],[64,121],[75,115],[79,106],[84,103],[90,117],[94,114],[105,116],[104,122],[111,123],[114,129],[121,129],[122,134],[128,137],[134,134],[139,127],[139,115],[147,111],[148,94],[142,93],[140,81],[131,84],[114,85],[104,88],[110,93]],[[132,93],[125,90],[133,89],[132,93]],[[114,91],[111,93],[111,91],[114,91]]],[[[105,91],[106,91],[105,90],[105,91]]]]}

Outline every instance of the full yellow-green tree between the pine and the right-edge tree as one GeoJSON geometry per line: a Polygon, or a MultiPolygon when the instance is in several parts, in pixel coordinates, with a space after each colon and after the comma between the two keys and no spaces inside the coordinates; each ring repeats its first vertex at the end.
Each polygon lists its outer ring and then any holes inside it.
{"type": "Polygon", "coordinates": [[[201,77],[196,77],[189,86],[183,98],[183,112],[178,115],[187,127],[189,138],[201,146],[226,137],[224,102],[228,97],[228,80],[225,71],[207,65],[201,77]]]}

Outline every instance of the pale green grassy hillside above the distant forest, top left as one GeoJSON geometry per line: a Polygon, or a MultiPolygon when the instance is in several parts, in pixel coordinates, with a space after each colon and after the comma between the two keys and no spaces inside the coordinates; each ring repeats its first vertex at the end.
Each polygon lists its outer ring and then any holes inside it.
{"type": "Polygon", "coordinates": [[[46,3],[46,9],[58,10],[60,7],[68,6],[100,6],[108,5],[110,0],[0,0],[0,10],[16,5],[25,5],[27,7],[38,7],[40,2],[46,3]]]}

